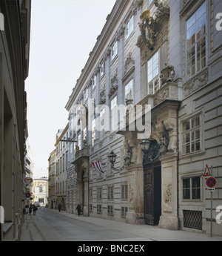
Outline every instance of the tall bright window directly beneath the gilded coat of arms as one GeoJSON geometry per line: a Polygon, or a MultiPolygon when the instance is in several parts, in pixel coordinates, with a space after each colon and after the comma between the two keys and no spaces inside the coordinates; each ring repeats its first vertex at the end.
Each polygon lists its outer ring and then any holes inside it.
{"type": "Polygon", "coordinates": [[[154,94],[160,88],[159,81],[159,52],[156,52],[147,62],[148,94],[154,94]]]}

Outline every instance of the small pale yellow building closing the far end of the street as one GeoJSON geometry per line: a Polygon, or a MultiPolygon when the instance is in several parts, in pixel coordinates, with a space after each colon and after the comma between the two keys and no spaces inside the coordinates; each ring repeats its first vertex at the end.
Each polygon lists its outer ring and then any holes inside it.
{"type": "Polygon", "coordinates": [[[40,206],[45,206],[48,203],[48,178],[34,178],[33,186],[33,202],[38,202],[40,206]]]}

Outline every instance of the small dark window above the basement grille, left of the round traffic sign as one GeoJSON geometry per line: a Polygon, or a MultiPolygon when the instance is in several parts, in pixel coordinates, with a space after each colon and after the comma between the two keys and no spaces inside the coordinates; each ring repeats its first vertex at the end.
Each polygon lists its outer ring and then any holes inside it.
{"type": "Polygon", "coordinates": [[[183,199],[201,199],[201,180],[200,177],[183,179],[183,199]]]}

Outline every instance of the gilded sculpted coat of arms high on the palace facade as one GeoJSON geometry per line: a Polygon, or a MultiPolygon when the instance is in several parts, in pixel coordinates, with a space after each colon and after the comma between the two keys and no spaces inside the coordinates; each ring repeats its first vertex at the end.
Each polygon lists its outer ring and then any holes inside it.
{"type": "Polygon", "coordinates": [[[137,46],[140,48],[147,47],[149,50],[153,50],[155,42],[156,42],[156,23],[155,20],[150,16],[150,10],[144,10],[141,13],[141,23],[139,23],[139,27],[141,30],[141,36],[138,37],[137,46]]]}

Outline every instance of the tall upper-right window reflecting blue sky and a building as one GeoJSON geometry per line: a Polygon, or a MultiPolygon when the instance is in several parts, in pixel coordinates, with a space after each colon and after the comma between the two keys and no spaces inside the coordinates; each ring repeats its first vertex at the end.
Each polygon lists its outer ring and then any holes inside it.
{"type": "Polygon", "coordinates": [[[206,67],[206,2],[186,21],[187,79],[206,67]]]}

